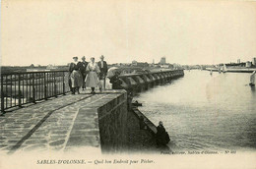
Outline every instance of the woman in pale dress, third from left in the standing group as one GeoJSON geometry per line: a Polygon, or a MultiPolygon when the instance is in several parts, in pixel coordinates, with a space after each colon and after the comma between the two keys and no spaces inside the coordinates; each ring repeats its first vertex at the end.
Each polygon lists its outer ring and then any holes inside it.
{"type": "Polygon", "coordinates": [[[86,77],[86,85],[92,88],[92,92],[93,94],[96,93],[95,88],[99,85],[99,80],[98,80],[98,76],[99,76],[99,68],[95,62],[95,58],[91,58],[91,62],[88,64],[87,66],[87,77],[86,77]]]}

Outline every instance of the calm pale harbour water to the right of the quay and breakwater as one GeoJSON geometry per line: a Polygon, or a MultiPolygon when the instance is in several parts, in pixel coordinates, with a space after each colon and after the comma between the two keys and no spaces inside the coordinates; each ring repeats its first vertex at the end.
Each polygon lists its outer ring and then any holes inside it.
{"type": "Polygon", "coordinates": [[[256,91],[250,74],[185,71],[134,97],[170,136],[173,150],[256,150],[256,91]]]}

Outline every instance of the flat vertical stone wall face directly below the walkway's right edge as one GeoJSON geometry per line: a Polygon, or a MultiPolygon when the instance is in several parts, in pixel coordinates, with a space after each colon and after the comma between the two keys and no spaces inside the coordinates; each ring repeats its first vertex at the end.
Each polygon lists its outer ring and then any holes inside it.
{"type": "Polygon", "coordinates": [[[117,152],[127,144],[127,93],[124,91],[97,109],[102,152],[117,152]]]}

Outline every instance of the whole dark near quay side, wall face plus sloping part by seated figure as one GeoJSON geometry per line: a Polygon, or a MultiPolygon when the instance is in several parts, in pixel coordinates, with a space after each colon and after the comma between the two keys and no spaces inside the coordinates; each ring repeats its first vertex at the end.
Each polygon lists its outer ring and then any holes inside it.
{"type": "Polygon", "coordinates": [[[157,152],[157,127],[137,107],[129,108],[127,98],[127,92],[120,90],[118,96],[100,100],[101,106],[96,107],[96,144],[102,153],[157,152]]]}

